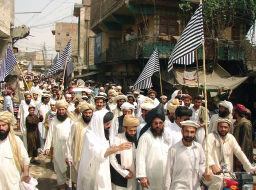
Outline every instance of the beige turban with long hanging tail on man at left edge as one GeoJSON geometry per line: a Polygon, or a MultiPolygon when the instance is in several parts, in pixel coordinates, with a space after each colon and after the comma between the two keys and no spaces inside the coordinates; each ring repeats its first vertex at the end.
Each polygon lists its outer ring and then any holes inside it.
{"type": "Polygon", "coordinates": [[[20,153],[20,147],[15,139],[15,134],[12,129],[12,126],[16,124],[16,120],[13,117],[13,115],[10,112],[0,112],[0,121],[8,124],[10,131],[8,134],[9,142],[10,142],[10,148],[13,155],[14,163],[16,165],[17,170],[19,171],[19,174],[21,174],[22,168],[23,168],[23,162],[22,157],[20,153]]]}

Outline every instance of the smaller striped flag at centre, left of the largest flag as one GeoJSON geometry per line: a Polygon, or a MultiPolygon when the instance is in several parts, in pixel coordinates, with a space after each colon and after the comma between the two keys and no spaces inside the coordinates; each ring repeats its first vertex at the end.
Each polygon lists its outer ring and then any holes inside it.
{"type": "Polygon", "coordinates": [[[133,85],[132,89],[146,89],[151,88],[151,76],[155,72],[160,71],[160,64],[159,64],[159,57],[158,57],[158,50],[155,49],[151,57],[148,59],[144,69],[140,73],[137,81],[133,85]]]}

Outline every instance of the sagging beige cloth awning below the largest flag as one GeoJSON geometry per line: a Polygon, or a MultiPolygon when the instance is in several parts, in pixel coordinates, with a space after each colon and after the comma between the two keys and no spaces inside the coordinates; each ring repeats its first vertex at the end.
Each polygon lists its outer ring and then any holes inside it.
{"type": "MultiPolygon", "coordinates": [[[[186,68],[186,71],[194,71],[196,68],[186,68]]],[[[172,85],[181,85],[189,88],[197,88],[197,82],[195,80],[186,80],[183,83],[183,73],[184,68],[174,68],[173,74],[175,77],[176,83],[173,83],[173,80],[167,80],[172,85]]],[[[243,81],[248,77],[234,77],[225,71],[220,65],[216,65],[214,70],[211,73],[206,72],[206,88],[210,91],[210,96],[213,97],[217,92],[213,92],[213,89],[222,89],[222,90],[233,90],[238,87],[243,81]]],[[[199,86],[203,85],[204,76],[203,68],[198,68],[198,80],[199,86]]]]}

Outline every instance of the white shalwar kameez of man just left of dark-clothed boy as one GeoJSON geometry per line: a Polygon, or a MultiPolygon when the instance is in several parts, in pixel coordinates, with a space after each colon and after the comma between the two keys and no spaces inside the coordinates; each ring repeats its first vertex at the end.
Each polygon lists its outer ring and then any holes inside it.
{"type": "MultiPolygon", "coordinates": [[[[30,105],[35,106],[34,101],[30,101],[30,105]]],[[[26,116],[28,116],[28,106],[25,102],[25,100],[20,101],[20,105],[18,108],[18,115],[17,118],[19,118],[19,127],[20,132],[22,134],[22,141],[24,144],[25,149],[27,150],[27,140],[26,140],[26,116]]]]}

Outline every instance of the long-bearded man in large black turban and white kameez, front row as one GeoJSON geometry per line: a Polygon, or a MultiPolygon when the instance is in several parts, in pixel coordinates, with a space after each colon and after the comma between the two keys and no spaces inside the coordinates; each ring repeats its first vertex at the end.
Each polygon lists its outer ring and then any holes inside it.
{"type": "Polygon", "coordinates": [[[164,141],[163,107],[157,107],[145,115],[145,127],[140,131],[136,151],[136,178],[140,179],[142,188],[161,190],[168,152],[168,144],[164,141]],[[147,130],[148,129],[148,130],[147,130]]]}

